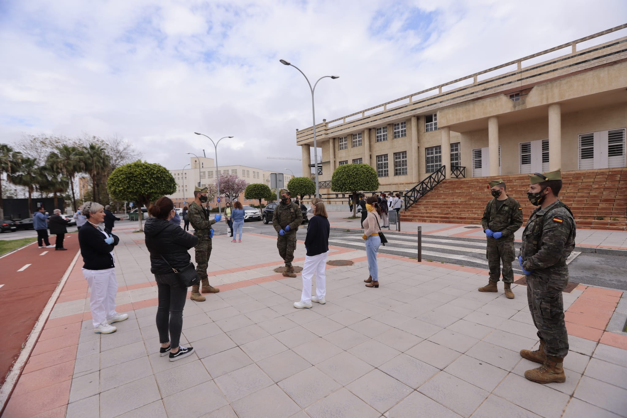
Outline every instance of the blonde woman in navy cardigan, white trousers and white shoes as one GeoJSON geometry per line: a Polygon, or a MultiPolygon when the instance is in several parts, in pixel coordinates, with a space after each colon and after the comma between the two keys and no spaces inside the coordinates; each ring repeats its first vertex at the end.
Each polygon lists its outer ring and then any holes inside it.
{"type": "Polygon", "coordinates": [[[325,276],[325,266],[329,255],[329,215],[324,207],[322,199],[312,199],[309,211],[314,212],[314,216],[309,219],[307,226],[307,238],[305,238],[305,266],[303,266],[303,293],[299,302],[294,302],[294,308],[311,308],[312,302],[324,305],[327,303],[324,298],[327,295],[327,281],[325,276]],[[312,296],[312,277],[315,273],[316,295],[312,296]]]}

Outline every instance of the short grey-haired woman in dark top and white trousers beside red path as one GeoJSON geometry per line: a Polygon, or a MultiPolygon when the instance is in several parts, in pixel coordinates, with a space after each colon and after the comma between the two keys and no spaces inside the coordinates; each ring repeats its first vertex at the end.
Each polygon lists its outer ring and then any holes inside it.
{"type": "Polygon", "coordinates": [[[89,307],[92,311],[93,332],[110,334],[117,331],[111,324],[127,320],[129,315],[115,311],[118,286],[113,249],[120,239],[105,233],[98,226],[105,220],[104,209],[96,202],[83,204],[81,212],[87,224],[78,231],[78,244],[84,261],[83,276],[91,291],[89,307]]]}

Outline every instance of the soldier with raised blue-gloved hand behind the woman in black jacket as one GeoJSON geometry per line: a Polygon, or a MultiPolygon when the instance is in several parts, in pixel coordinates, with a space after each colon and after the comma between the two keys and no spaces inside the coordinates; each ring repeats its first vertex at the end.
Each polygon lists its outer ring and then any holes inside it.
{"type": "MultiPolygon", "coordinates": [[[[218,293],[220,290],[209,285],[207,276],[207,264],[211,257],[211,238],[213,238],[213,225],[219,222],[221,215],[214,216],[209,219],[209,212],[203,207],[203,202],[207,201],[207,187],[196,187],[194,189],[194,201],[189,205],[187,217],[194,227],[194,235],[198,236],[198,244],[196,245],[196,272],[203,284],[203,293],[218,293]]],[[[192,286],[192,294],[189,296],[191,300],[203,302],[206,298],[200,294],[199,285],[192,286]]]]}

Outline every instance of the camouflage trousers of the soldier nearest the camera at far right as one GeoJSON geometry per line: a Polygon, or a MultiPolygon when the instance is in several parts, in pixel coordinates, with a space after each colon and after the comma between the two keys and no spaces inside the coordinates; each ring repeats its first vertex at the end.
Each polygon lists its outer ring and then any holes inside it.
{"type": "MultiPolygon", "coordinates": [[[[564,274],[533,273],[527,276],[527,303],[538,329],[538,338],[544,341],[544,350],[552,357],[566,357],[568,334],[564,322],[562,290],[568,284],[568,268],[558,268],[564,274]]],[[[553,271],[556,268],[552,268],[553,271]]]]}

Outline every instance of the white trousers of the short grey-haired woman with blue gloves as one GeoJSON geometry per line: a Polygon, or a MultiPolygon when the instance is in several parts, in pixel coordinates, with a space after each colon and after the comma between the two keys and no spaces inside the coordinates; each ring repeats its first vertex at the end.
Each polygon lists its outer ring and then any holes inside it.
{"type": "Polygon", "coordinates": [[[115,296],[117,295],[117,278],[115,268],[104,270],[88,270],[83,268],[83,276],[87,279],[92,295],[89,307],[92,311],[92,323],[98,325],[115,315],[115,296]]]}

